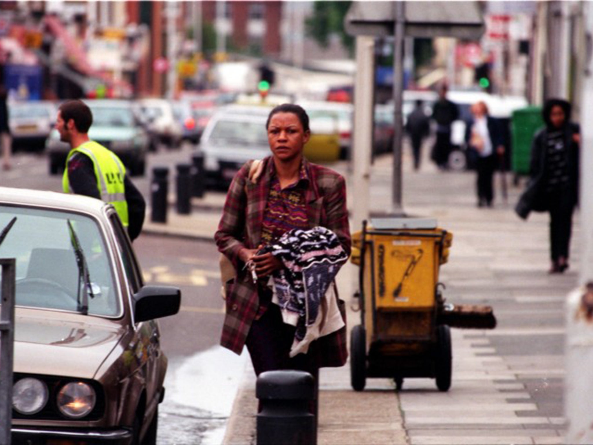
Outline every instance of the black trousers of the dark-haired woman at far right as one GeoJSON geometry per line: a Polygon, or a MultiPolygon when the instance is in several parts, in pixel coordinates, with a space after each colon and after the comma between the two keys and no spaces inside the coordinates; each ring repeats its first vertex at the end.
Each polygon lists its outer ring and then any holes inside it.
{"type": "Polygon", "coordinates": [[[570,236],[572,234],[573,199],[562,191],[548,195],[550,206],[550,256],[552,261],[560,257],[569,258],[570,236]]]}

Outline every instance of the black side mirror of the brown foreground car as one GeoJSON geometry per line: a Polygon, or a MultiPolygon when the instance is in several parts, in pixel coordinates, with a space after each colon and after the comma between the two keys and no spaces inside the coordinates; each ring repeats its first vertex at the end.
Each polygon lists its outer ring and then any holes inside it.
{"type": "Polygon", "coordinates": [[[181,306],[181,291],[170,286],[144,286],[132,300],[135,322],[145,322],[176,314],[181,306]]]}

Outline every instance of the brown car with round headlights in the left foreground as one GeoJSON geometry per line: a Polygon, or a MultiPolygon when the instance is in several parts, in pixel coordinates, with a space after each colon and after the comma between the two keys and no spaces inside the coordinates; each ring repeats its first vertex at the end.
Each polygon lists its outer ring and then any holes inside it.
{"type": "Polygon", "coordinates": [[[113,206],[0,188],[16,259],[12,444],[157,443],[167,357],[154,320],[181,293],[145,285],[113,206]]]}

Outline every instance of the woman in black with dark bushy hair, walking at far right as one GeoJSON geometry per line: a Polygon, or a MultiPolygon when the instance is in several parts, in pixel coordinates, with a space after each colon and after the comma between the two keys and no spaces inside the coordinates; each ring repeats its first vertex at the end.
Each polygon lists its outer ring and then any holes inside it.
{"type": "Polygon", "coordinates": [[[530,180],[515,211],[527,219],[530,211],[550,212],[550,274],[569,267],[572,213],[578,203],[580,129],[570,122],[570,104],[546,101],[546,127],[533,139],[530,180]]]}

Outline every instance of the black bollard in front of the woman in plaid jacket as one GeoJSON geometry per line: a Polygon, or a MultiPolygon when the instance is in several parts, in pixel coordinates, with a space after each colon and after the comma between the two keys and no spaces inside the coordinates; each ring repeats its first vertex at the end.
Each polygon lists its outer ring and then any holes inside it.
{"type": "Polygon", "coordinates": [[[257,378],[257,445],[315,445],[317,425],[310,412],[313,376],[304,371],[267,371],[257,378]]]}

